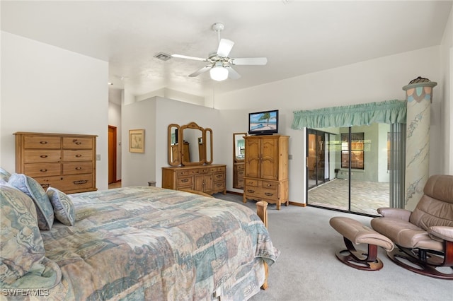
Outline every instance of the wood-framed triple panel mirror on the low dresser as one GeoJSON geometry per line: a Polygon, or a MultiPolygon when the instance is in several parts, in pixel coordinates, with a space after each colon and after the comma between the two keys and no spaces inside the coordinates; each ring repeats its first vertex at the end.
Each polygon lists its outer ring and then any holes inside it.
{"type": "Polygon", "coordinates": [[[168,125],[168,164],[203,165],[212,163],[212,129],[195,122],[168,125]]]}

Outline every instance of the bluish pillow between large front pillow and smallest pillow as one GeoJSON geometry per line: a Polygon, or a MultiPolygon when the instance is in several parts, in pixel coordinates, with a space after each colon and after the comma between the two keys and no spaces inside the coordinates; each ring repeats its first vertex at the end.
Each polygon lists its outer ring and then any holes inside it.
{"type": "Polygon", "coordinates": [[[54,209],[41,185],[31,177],[16,173],[11,175],[8,184],[18,188],[35,201],[36,213],[38,213],[38,227],[41,230],[50,230],[54,223],[54,209]]]}

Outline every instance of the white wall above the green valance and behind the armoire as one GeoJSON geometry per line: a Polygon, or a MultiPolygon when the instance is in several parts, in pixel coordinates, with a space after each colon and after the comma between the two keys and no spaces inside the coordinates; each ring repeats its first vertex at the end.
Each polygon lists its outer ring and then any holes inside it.
{"type": "MultiPolygon", "coordinates": [[[[242,108],[254,110],[280,110],[280,134],[289,135],[289,200],[305,202],[304,194],[304,131],[291,129],[294,110],[311,110],[321,107],[353,105],[405,98],[402,87],[417,76],[437,81],[433,102],[442,102],[442,74],[440,73],[440,47],[429,47],[389,57],[363,61],[336,69],[289,78],[266,85],[216,95],[215,107],[223,110],[242,108]]],[[[440,108],[433,105],[434,115],[440,108]]],[[[238,118],[239,119],[239,118],[238,118]]],[[[432,133],[440,131],[440,123],[432,118],[432,133]]],[[[435,146],[439,135],[431,136],[430,174],[441,172],[437,163],[442,151],[435,146]]]]}

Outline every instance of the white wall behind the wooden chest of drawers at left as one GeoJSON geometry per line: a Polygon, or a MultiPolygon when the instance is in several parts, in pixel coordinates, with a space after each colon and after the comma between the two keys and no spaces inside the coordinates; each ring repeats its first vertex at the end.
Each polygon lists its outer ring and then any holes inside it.
{"type": "Polygon", "coordinates": [[[108,187],[108,62],[1,32],[0,165],[16,170],[13,133],[98,135],[96,185],[108,187]]]}

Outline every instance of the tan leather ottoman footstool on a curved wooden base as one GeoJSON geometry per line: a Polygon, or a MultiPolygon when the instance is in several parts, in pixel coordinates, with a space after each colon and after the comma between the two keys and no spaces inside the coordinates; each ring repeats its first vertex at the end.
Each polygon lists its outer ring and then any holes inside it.
{"type": "Polygon", "coordinates": [[[332,228],[343,235],[348,249],[338,251],[337,258],[348,266],[365,271],[378,271],[384,266],[377,257],[377,247],[390,252],[394,243],[382,234],[352,218],[336,216],[329,221],[332,228]],[[368,251],[357,250],[354,244],[368,244],[368,251]]]}

